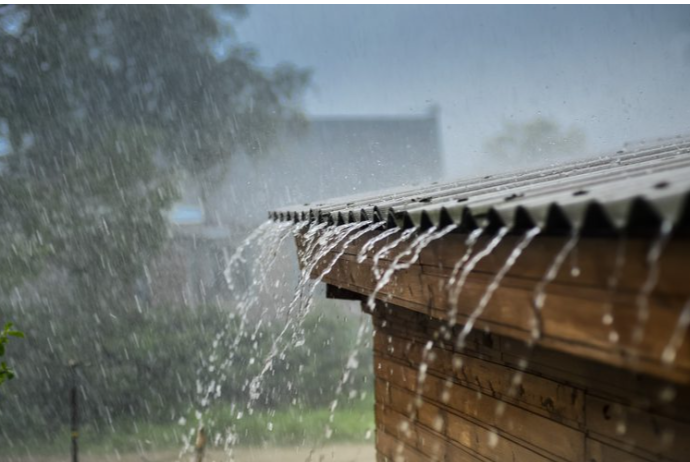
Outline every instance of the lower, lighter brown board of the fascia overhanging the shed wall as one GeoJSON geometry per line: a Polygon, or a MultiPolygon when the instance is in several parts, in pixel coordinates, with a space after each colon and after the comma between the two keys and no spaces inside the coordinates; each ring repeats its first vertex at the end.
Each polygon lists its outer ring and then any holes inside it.
{"type": "MultiPolygon", "coordinates": [[[[326,280],[331,284],[343,284],[345,288],[362,294],[371,292],[374,285],[370,268],[347,260],[340,260],[326,280]],[[354,283],[338,282],[343,280],[340,273],[348,274],[354,283]]],[[[458,305],[460,323],[472,314],[484,295],[487,283],[482,276],[468,279],[462,303],[458,305]]],[[[391,284],[381,291],[381,298],[445,319],[448,317],[448,303],[444,284],[444,278],[422,273],[420,268],[413,267],[398,273],[391,284]]],[[[494,293],[477,320],[476,327],[523,341],[530,340],[533,291],[531,287],[521,284],[519,280],[505,281],[494,293]]],[[[618,297],[613,304],[614,320],[609,326],[602,322],[605,306],[597,298],[596,294],[584,292],[573,295],[559,291],[555,285],[549,286],[547,305],[543,310],[544,336],[540,344],[576,356],[690,383],[690,342],[682,345],[673,367],[660,360],[680,313],[679,300],[673,303],[667,299],[650,301],[652,316],[644,324],[645,337],[637,343],[632,338],[632,332],[640,325],[634,301],[629,297],[618,297]],[[619,333],[616,342],[610,339],[613,330],[619,333]]]]}

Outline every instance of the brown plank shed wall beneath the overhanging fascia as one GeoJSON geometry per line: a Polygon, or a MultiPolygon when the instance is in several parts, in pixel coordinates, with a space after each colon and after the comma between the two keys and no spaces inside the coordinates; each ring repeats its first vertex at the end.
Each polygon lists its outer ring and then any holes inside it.
{"type": "Polygon", "coordinates": [[[686,386],[495,334],[460,353],[435,338],[443,321],[372,316],[379,461],[690,460],[686,386]]]}

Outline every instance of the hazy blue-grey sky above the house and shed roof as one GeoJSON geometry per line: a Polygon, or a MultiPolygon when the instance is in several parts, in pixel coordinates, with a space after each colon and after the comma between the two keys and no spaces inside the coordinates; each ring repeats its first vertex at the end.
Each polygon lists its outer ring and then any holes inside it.
{"type": "Polygon", "coordinates": [[[253,5],[237,33],[312,70],[308,114],[437,104],[447,177],[514,168],[484,152],[507,121],[578,127],[583,156],[690,135],[687,5],[253,5]]]}

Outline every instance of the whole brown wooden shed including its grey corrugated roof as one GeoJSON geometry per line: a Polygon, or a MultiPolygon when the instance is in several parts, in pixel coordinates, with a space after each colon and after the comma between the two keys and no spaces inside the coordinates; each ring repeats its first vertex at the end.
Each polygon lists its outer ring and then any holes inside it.
{"type": "Polygon", "coordinates": [[[678,139],[271,217],[371,314],[378,460],[682,462],[689,191],[678,139]]]}

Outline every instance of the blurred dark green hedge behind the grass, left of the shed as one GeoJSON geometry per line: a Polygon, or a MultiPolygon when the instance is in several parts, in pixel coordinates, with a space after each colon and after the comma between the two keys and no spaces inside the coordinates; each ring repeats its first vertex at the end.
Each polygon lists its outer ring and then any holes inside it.
{"type": "MultiPolygon", "coordinates": [[[[42,317],[51,315],[49,308],[39,310],[42,317]]],[[[73,343],[69,323],[32,324],[26,341],[13,349],[21,380],[0,390],[0,427],[5,431],[0,432],[0,445],[6,443],[3,436],[27,444],[49,440],[56,429],[67,426],[73,380],[64,358],[80,359],[81,419],[91,434],[99,428],[109,434],[112,421],[131,426],[192,417],[195,403],[207,393],[214,409],[245,409],[249,384],[283,328],[282,320],[265,319],[246,335],[239,318],[229,319],[228,311],[217,306],[149,307],[136,323],[119,321],[97,351],[83,351],[73,343]],[[211,383],[209,391],[205,386],[211,383]]],[[[356,346],[359,321],[335,302],[322,301],[305,320],[305,328],[310,335],[304,345],[289,349],[267,373],[265,393],[254,403],[257,410],[331,404],[343,365],[356,346]]],[[[370,347],[359,346],[363,364],[353,371],[347,392],[371,393],[372,383],[365,382],[373,370],[370,347]]],[[[348,393],[343,396],[345,404],[348,393]]]]}

